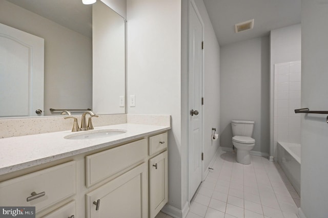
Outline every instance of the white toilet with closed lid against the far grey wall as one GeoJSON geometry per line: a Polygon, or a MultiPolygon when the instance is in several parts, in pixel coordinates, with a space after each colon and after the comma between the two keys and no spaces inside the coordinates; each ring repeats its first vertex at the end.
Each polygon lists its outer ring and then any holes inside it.
{"type": "Polygon", "coordinates": [[[253,135],[254,121],[232,120],[232,144],[237,148],[237,162],[250,164],[250,150],[254,148],[253,135]]]}

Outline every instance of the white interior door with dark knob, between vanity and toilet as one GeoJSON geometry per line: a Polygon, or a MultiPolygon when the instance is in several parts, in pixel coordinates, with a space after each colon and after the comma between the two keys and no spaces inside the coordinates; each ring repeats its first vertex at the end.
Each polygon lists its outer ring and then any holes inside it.
{"type": "Polygon", "coordinates": [[[189,200],[202,178],[202,24],[194,5],[189,15],[189,200]]]}

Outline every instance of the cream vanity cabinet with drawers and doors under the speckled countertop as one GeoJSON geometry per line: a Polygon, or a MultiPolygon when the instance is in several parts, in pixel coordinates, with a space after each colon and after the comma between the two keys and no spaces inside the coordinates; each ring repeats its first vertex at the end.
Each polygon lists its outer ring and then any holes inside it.
{"type": "Polygon", "coordinates": [[[167,146],[164,131],[9,173],[0,205],[47,218],[153,218],[168,202],[167,146]]]}

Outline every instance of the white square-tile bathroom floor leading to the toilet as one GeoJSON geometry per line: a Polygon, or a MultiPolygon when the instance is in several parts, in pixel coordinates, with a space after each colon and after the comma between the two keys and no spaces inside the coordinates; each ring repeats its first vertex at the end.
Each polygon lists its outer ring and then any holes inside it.
{"type": "Polygon", "coordinates": [[[187,218],[297,218],[300,198],[276,162],[252,156],[252,163],[243,165],[234,153],[223,152],[212,168],[187,218]]]}

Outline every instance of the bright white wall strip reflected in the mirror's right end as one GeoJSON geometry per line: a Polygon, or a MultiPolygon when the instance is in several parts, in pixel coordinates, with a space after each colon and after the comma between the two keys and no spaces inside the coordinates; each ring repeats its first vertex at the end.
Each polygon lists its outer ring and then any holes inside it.
{"type": "Polygon", "coordinates": [[[124,114],[119,98],[125,97],[125,20],[106,4],[92,6],[92,110],[124,114]]]}

